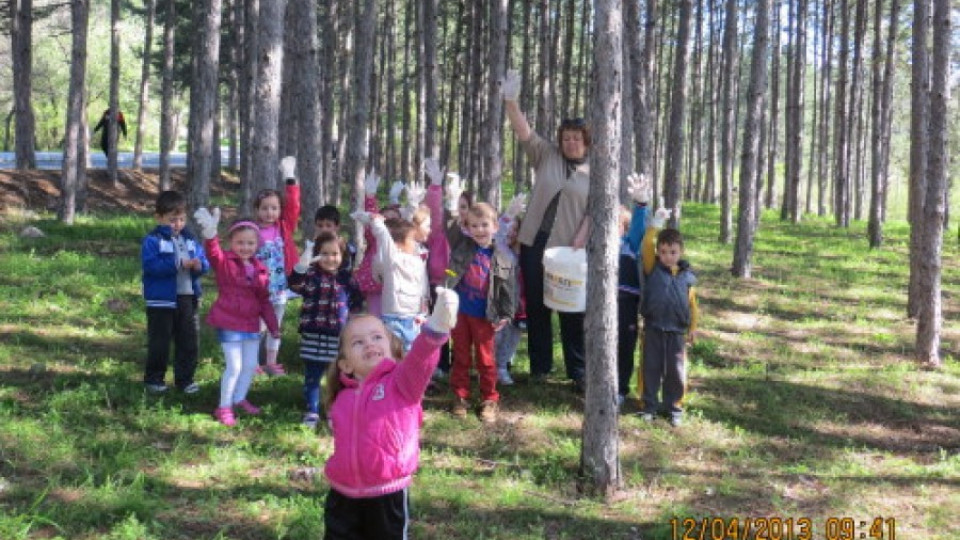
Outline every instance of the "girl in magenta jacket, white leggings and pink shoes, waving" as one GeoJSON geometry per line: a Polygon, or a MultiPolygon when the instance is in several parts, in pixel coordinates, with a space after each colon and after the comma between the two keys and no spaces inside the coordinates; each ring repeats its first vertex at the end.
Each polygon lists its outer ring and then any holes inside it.
{"type": "Polygon", "coordinates": [[[279,337],[277,316],[267,290],[267,267],[256,258],[260,245],[257,224],[240,220],[227,229],[230,251],[224,252],[217,239],[220,209],[211,213],[200,208],[194,213],[200,225],[204,248],[217,278],[219,295],[207,315],[207,323],[217,329],[226,366],[220,378],[220,406],[214,417],[225,426],[236,424],[234,406],[255,415],[260,409],[247,401],[247,391],[257,368],[260,352],[260,319],[270,335],[279,337]]]}

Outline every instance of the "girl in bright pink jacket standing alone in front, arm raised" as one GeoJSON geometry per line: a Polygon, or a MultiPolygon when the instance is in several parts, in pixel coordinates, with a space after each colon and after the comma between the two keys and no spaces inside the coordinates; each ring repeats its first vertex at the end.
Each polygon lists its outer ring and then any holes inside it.
{"type": "Polygon", "coordinates": [[[399,340],[380,319],[360,315],[343,328],[327,371],[333,455],[324,469],[326,538],[406,538],[423,393],[458,306],[457,293],[438,288],[433,313],[402,362],[394,360],[399,340]]]}

